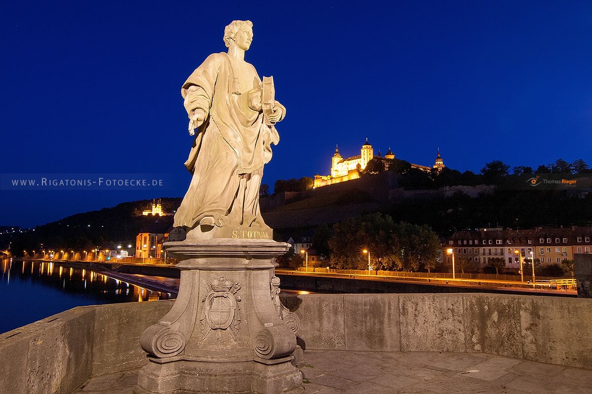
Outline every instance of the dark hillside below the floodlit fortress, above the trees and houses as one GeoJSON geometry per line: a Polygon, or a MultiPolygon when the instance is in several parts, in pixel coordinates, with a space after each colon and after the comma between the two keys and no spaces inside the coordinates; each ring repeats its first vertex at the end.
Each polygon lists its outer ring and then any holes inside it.
{"type": "Polygon", "coordinates": [[[494,185],[455,185],[434,189],[400,187],[398,175],[382,172],[344,183],[262,199],[262,215],[276,233],[298,233],[366,213],[397,221],[428,224],[440,235],[477,227],[592,224],[592,193],[511,190],[494,185]]]}

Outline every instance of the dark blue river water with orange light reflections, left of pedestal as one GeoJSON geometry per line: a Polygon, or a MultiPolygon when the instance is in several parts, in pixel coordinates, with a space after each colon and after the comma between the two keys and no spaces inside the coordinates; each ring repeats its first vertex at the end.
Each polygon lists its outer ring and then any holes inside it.
{"type": "Polygon", "coordinates": [[[82,305],[172,298],[98,272],[59,263],[0,259],[0,333],[82,305]]]}

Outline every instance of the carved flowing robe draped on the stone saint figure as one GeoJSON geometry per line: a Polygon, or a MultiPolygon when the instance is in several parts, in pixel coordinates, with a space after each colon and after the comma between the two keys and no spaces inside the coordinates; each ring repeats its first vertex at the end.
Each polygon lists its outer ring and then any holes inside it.
{"type": "Polygon", "coordinates": [[[259,83],[251,64],[217,53],[183,84],[189,116],[199,108],[207,118],[196,130],[185,162],[193,177],[174,226],[195,227],[208,216],[220,227],[265,226],[259,186],[263,165],[271,159],[271,144],[278,144],[279,135],[274,126],[265,124],[262,112],[248,106],[245,93],[259,83]]]}

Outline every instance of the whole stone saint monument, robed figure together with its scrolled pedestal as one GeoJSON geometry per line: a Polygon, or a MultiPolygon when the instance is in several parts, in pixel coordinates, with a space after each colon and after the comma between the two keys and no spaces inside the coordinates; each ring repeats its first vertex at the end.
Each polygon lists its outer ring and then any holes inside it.
{"type": "Polygon", "coordinates": [[[263,165],[285,108],[272,77],[260,80],[243,60],[252,39],[251,22],[233,21],[228,53],[208,56],[181,89],[195,142],[175,226],[190,231],[162,246],[179,259],[179,295],[140,337],[149,357],[135,394],[304,393],[300,324],[281,304],[275,276],[290,245],[273,240],[259,213],[263,165]]]}

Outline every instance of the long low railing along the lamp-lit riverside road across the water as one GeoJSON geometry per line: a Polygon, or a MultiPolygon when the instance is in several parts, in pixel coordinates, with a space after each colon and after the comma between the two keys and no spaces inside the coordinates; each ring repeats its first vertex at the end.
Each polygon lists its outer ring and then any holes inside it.
{"type": "MultiPolygon", "coordinates": [[[[367,269],[327,269],[327,268],[305,268],[298,267],[300,272],[315,272],[315,273],[342,273],[345,275],[368,275],[367,269]]],[[[536,272],[535,272],[536,273],[536,272]]],[[[391,276],[396,278],[424,278],[424,279],[452,279],[452,272],[408,272],[408,271],[370,271],[370,275],[376,276],[391,276]]],[[[499,275],[495,273],[455,273],[456,279],[482,279],[491,281],[516,281],[520,282],[520,275],[508,275],[501,273],[499,275]]],[[[529,281],[530,275],[525,274],[524,280],[529,281]]],[[[555,280],[553,276],[536,276],[536,279],[540,280],[555,280]]],[[[560,278],[559,278],[560,279],[560,278]]],[[[558,280],[559,280],[558,279],[558,280]]],[[[573,281],[574,279],[562,279],[565,281],[573,281]]]]}

